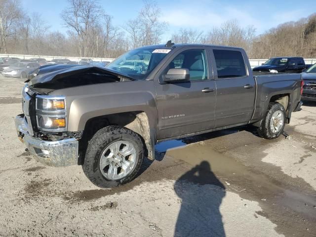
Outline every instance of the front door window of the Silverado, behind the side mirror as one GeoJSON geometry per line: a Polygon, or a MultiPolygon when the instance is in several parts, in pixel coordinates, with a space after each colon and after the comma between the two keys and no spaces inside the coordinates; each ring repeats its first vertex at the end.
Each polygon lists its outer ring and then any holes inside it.
{"type": "Polygon", "coordinates": [[[205,80],[207,77],[207,62],[203,49],[190,49],[179,53],[163,70],[167,74],[171,68],[186,68],[190,71],[191,80],[205,80]]]}

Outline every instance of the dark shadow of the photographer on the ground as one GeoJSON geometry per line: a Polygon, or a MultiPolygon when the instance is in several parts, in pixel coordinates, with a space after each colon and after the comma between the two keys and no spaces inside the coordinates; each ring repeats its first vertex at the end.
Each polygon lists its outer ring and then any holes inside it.
{"type": "Polygon", "coordinates": [[[207,161],[182,175],[174,189],[182,199],[175,237],[225,237],[219,210],[226,194],[225,187],[207,161]]]}

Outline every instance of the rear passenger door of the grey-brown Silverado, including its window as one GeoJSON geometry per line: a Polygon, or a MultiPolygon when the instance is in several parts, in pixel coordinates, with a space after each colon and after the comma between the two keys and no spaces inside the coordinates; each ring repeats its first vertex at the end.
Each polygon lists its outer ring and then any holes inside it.
{"type": "Polygon", "coordinates": [[[214,47],[213,61],[216,68],[217,89],[215,127],[248,122],[253,114],[255,81],[246,53],[241,49],[214,47]]]}

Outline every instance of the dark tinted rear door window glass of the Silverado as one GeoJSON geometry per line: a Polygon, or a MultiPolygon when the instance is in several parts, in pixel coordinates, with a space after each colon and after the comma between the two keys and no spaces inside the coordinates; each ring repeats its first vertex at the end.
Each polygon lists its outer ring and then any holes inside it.
{"type": "Polygon", "coordinates": [[[213,50],[218,78],[246,76],[246,67],[241,52],[233,50],[213,50]]]}

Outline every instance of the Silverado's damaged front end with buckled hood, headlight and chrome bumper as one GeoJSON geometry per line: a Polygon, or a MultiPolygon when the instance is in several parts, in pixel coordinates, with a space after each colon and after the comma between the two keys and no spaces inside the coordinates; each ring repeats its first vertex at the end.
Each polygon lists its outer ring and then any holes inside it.
{"type": "Polygon", "coordinates": [[[83,131],[68,131],[66,96],[49,93],[60,88],[131,79],[97,67],[57,69],[45,74],[39,70],[39,75],[25,85],[23,114],[16,116],[15,127],[20,140],[38,161],[59,167],[80,163],[79,140],[83,131]]]}

